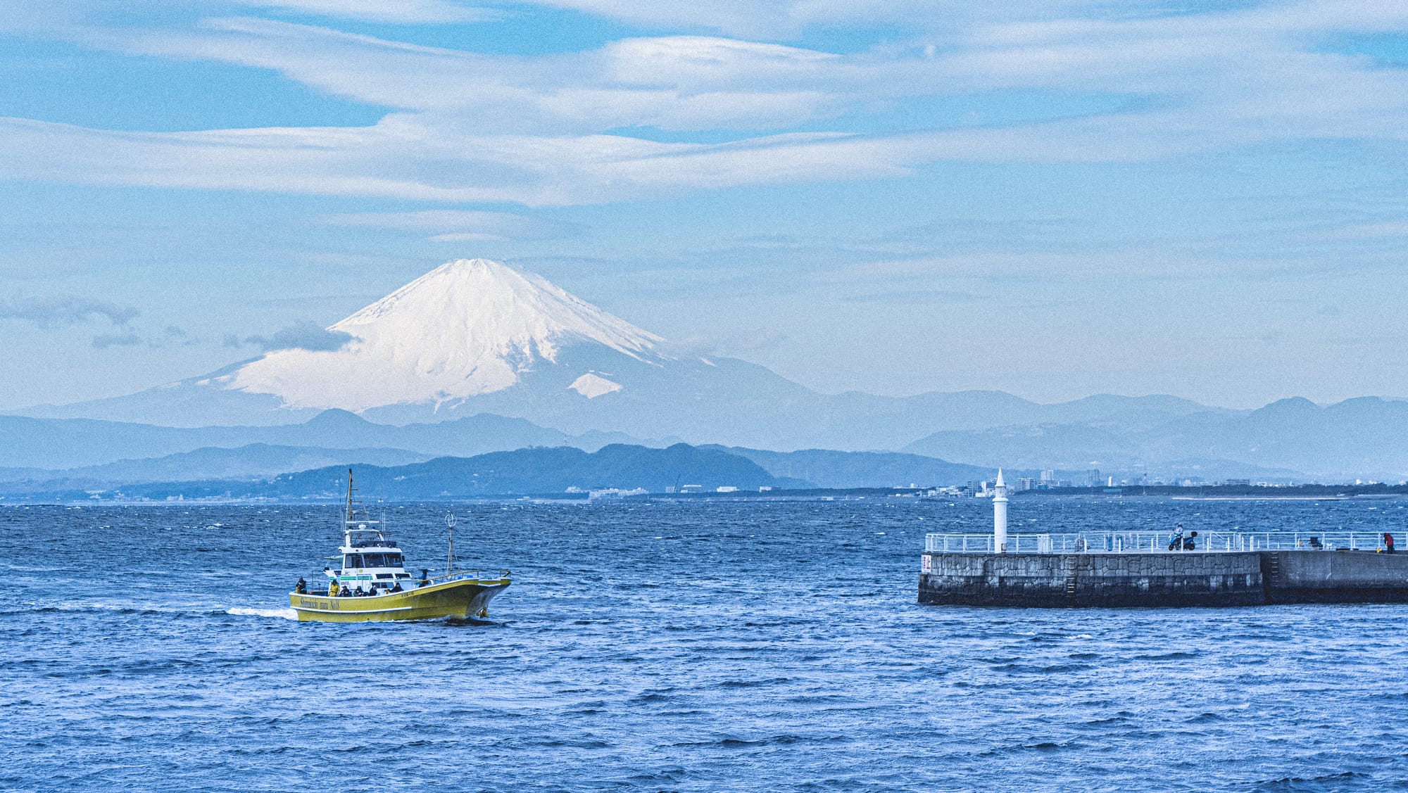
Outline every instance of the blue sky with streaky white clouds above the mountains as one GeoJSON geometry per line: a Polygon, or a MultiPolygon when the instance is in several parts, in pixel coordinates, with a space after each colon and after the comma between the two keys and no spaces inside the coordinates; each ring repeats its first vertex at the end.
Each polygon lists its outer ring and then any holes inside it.
{"type": "Polygon", "coordinates": [[[1373,0],[10,0],[0,409],[474,256],[824,391],[1405,396],[1405,69],[1373,0]]]}

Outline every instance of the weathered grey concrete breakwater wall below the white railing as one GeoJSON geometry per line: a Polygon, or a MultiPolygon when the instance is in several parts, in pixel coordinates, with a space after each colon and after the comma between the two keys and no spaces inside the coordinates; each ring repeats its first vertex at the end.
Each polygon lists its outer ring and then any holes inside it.
{"type": "Polygon", "coordinates": [[[1038,607],[1402,603],[1408,602],[1408,554],[926,551],[919,602],[1038,607]]]}

